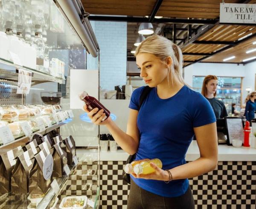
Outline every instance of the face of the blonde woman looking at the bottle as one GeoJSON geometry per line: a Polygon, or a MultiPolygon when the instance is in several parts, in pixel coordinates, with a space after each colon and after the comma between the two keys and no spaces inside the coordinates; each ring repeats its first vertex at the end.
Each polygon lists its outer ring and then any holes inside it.
{"type": "MultiPolygon", "coordinates": [[[[171,58],[167,59],[170,64],[171,58]]],[[[168,82],[168,67],[159,58],[151,53],[139,53],[136,56],[136,64],[140,70],[140,77],[143,78],[149,87],[156,87],[159,84],[168,82]]]]}

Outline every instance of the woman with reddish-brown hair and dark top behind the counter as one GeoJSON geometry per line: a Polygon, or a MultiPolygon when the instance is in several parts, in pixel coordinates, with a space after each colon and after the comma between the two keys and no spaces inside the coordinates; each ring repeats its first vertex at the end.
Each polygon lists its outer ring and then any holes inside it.
{"type": "Polygon", "coordinates": [[[224,102],[215,98],[218,87],[218,78],[215,75],[207,75],[203,81],[202,94],[209,101],[216,118],[224,118],[227,110],[224,102]]]}

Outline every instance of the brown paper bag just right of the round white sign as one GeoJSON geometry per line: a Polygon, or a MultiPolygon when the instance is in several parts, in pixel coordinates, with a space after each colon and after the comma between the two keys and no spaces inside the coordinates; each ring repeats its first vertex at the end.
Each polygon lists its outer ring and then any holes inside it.
{"type": "Polygon", "coordinates": [[[53,152],[53,172],[52,177],[65,176],[64,166],[67,164],[66,145],[63,142],[58,142],[54,146],[53,152]]]}

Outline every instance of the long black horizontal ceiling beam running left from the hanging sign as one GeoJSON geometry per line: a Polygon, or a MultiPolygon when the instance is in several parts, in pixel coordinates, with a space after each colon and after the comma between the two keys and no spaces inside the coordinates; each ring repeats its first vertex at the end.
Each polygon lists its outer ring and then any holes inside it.
{"type": "MultiPolygon", "coordinates": [[[[96,21],[121,21],[121,22],[131,22],[131,23],[147,23],[148,18],[146,17],[116,17],[116,16],[89,16],[89,20],[96,21]]],[[[179,19],[179,18],[154,18],[153,23],[180,23],[180,24],[215,24],[218,20],[198,20],[198,19],[179,19]]]]}

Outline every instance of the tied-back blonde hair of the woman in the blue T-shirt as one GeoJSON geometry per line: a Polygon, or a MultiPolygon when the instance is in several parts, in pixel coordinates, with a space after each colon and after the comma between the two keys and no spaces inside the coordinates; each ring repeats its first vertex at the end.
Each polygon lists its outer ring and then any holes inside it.
{"type": "Polygon", "coordinates": [[[160,58],[161,61],[165,61],[166,58],[170,56],[172,58],[171,67],[166,64],[168,66],[168,83],[169,73],[171,72],[172,83],[173,78],[176,77],[178,81],[185,85],[185,81],[182,77],[182,51],[180,47],[172,43],[172,41],[160,35],[149,36],[136,48],[135,56],[137,56],[139,53],[154,54],[156,57],[160,58]]]}

